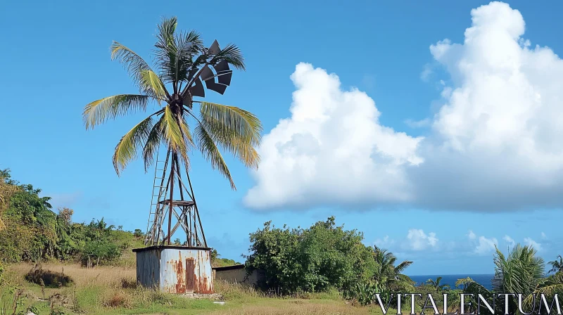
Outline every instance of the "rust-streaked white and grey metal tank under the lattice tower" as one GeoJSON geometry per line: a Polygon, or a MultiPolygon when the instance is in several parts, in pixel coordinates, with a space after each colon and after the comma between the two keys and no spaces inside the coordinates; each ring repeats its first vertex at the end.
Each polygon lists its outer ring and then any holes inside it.
{"type": "Polygon", "coordinates": [[[210,248],[135,248],[137,283],[165,293],[213,293],[210,248]]]}

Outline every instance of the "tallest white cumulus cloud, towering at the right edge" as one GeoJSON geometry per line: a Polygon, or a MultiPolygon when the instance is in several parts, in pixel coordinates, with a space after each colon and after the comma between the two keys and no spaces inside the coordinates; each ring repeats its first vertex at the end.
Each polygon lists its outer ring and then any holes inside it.
{"type": "Polygon", "coordinates": [[[430,47],[454,83],[444,88],[433,146],[426,146],[413,185],[421,203],[561,205],[563,61],[548,48],[532,48],[521,37],[524,26],[519,11],[492,2],[472,11],[463,44],[445,39],[430,47]]]}

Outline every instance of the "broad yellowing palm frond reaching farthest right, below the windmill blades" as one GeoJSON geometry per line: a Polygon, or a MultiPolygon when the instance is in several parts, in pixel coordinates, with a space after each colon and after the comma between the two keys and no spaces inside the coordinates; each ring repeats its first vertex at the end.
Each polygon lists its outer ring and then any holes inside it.
{"type": "Polygon", "coordinates": [[[219,145],[247,167],[258,167],[254,146],[261,140],[262,123],[255,115],[234,106],[201,103],[201,124],[219,145]]]}

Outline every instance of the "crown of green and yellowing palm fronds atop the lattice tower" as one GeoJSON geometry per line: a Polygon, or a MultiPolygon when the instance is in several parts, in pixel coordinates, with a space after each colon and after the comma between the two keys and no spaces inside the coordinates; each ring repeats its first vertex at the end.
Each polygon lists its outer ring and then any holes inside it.
{"type": "Polygon", "coordinates": [[[241,108],[194,101],[191,88],[209,66],[227,63],[245,70],[243,56],[234,44],[224,49],[205,48],[197,32],[177,32],[176,27],[177,18],[165,18],[158,25],[154,49],[156,70],[137,53],[113,41],[111,58],[125,65],[139,87],[139,94],[119,94],[89,103],[84,107],[84,124],[87,129],[93,129],[108,119],[139,110],[146,112],[148,103],[158,103],[160,109],[129,130],[115,147],[115,172],[119,175],[129,162],[140,156],[146,170],[163,143],[175,155],[176,163],[179,157],[186,168],[189,152],[197,148],[236,189],[220,148],[232,153],[246,167],[258,167],[260,157],[254,147],[260,143],[262,124],[255,115],[241,108]]]}

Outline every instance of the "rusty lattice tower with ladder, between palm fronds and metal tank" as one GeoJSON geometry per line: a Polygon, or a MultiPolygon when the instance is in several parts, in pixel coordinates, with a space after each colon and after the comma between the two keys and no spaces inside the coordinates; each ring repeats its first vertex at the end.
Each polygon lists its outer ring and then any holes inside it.
{"type": "Polygon", "coordinates": [[[155,164],[145,245],[170,245],[172,236],[181,229],[185,238],[180,238],[182,243],[177,245],[207,248],[188,170],[171,150],[167,151],[165,160],[158,160],[157,155],[155,164]]]}

